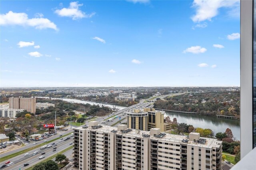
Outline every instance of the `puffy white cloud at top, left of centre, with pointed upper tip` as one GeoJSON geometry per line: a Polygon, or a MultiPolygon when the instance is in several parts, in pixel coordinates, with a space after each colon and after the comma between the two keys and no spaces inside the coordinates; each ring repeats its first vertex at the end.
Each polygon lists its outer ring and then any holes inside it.
{"type": "Polygon", "coordinates": [[[78,2],[70,2],[70,6],[68,8],[62,8],[61,10],[55,10],[55,13],[62,17],[71,17],[72,20],[78,20],[81,18],[91,18],[96,13],[92,12],[91,14],[86,14],[79,10],[79,7],[83,6],[83,4],[78,4],[78,2]]]}

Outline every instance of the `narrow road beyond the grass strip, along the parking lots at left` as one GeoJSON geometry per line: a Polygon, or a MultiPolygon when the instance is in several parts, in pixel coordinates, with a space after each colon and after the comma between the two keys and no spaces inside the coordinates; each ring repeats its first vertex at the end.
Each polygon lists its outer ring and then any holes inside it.
{"type": "MultiPolygon", "coordinates": [[[[67,128],[68,128],[68,127],[67,127],[67,128]]],[[[66,135],[66,134],[68,134],[68,133],[70,133],[70,132],[73,132],[73,130],[72,130],[72,129],[68,129],[68,131],[60,131],[60,130],[58,130],[58,131],[57,131],[57,135],[53,135],[53,136],[48,137],[48,138],[46,138],[46,139],[44,139],[44,140],[51,141],[52,139],[56,139],[57,137],[60,137],[60,135],[66,135]]],[[[37,144],[32,144],[32,143],[35,142],[35,141],[33,141],[33,142],[31,142],[32,145],[26,145],[26,146],[24,146],[24,147],[21,147],[21,148],[15,149],[15,150],[11,150],[11,151],[9,151],[9,152],[5,152],[5,153],[1,154],[1,157],[4,157],[4,156],[10,155],[10,154],[19,152],[19,151],[21,151],[21,150],[25,150],[25,149],[34,147],[34,146],[36,146],[36,145],[39,145],[39,144],[41,144],[41,143],[44,143],[44,140],[37,141],[37,144]]],[[[0,164],[2,165],[2,162],[1,162],[0,164]]]]}

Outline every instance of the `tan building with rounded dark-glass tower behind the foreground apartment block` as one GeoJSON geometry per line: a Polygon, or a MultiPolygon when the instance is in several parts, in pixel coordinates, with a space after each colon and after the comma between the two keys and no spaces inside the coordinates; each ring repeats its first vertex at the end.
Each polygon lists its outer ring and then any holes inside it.
{"type": "Polygon", "coordinates": [[[171,129],[170,123],[164,123],[164,111],[156,111],[154,108],[146,107],[142,110],[134,109],[127,113],[127,127],[148,131],[151,128],[159,128],[161,132],[171,129]]]}

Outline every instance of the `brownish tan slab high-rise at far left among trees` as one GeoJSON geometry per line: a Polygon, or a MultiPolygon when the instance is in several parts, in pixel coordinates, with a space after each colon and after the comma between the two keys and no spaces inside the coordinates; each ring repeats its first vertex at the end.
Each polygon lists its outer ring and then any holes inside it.
{"type": "Polygon", "coordinates": [[[24,109],[36,113],[36,98],[9,98],[9,109],[24,109]]]}

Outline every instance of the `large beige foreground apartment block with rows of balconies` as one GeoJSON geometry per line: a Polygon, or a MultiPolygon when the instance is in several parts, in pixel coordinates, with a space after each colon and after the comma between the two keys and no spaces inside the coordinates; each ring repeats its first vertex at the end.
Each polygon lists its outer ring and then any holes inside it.
{"type": "Polygon", "coordinates": [[[222,141],[109,127],[89,122],[74,129],[74,167],[78,170],[221,170],[222,141]]]}

